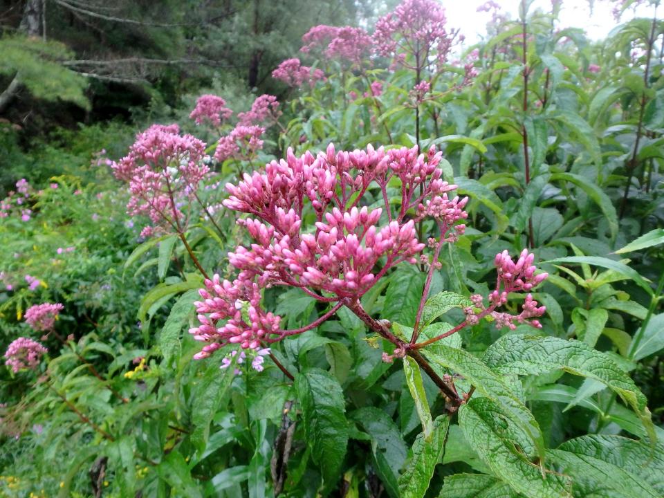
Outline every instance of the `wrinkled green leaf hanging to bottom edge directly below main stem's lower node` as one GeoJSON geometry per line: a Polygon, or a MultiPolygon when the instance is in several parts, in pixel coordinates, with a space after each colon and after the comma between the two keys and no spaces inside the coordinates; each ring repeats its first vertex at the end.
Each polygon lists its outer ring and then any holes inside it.
{"type": "Polygon", "coordinates": [[[443,456],[450,418],[434,420],[429,436],[420,433],[413,443],[413,458],[399,478],[400,498],[423,498],[434,476],[436,464],[443,456]]]}

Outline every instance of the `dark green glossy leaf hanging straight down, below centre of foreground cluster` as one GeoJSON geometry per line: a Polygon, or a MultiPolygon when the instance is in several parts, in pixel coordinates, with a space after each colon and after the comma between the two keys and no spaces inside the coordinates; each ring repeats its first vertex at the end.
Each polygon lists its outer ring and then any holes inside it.
{"type": "Polygon", "coordinates": [[[348,444],[344,393],[328,372],[309,369],[295,376],[295,392],[304,421],[304,434],[325,488],[335,485],[348,444]]]}

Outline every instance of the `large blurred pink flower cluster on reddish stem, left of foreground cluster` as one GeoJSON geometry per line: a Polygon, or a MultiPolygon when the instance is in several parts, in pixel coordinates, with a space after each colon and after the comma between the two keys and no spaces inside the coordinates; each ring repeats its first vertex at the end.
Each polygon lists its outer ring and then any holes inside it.
{"type": "MultiPolygon", "coordinates": [[[[205,143],[181,135],[177,124],[155,124],[136,136],[129,154],[113,163],[116,178],[129,183],[127,212],[148,216],[158,228],[181,228],[185,215],[178,204],[196,192],[208,174],[203,163],[205,143]]],[[[143,235],[154,232],[147,227],[143,235]]]]}

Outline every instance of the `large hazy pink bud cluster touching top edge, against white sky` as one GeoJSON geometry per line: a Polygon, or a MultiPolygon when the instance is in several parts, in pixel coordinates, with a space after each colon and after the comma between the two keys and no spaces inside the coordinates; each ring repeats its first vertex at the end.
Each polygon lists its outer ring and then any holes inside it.
{"type": "Polygon", "coordinates": [[[404,0],[378,19],[374,43],[378,54],[392,57],[394,65],[421,69],[432,57],[444,64],[456,37],[446,24],[445,9],[437,1],[404,0]]]}

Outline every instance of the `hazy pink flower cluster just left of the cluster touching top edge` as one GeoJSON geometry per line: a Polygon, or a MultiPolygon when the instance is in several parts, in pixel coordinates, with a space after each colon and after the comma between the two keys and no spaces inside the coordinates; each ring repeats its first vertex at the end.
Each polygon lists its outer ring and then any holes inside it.
{"type": "Polygon", "coordinates": [[[328,59],[340,59],[361,65],[372,46],[371,37],[362,28],[352,26],[314,26],[302,37],[301,52],[322,50],[328,59]]]}

